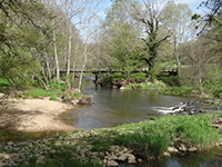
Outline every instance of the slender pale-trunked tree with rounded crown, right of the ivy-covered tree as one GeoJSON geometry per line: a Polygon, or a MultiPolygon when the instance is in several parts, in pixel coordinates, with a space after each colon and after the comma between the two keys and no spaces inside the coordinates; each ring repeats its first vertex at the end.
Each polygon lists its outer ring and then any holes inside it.
{"type": "Polygon", "coordinates": [[[169,1],[164,7],[162,17],[163,29],[167,30],[165,33],[171,33],[171,42],[173,43],[173,57],[175,58],[178,66],[178,75],[180,77],[181,69],[181,58],[179,46],[182,42],[191,40],[193,38],[193,32],[195,30],[194,23],[191,20],[192,10],[185,3],[175,3],[174,1],[169,1]]]}

